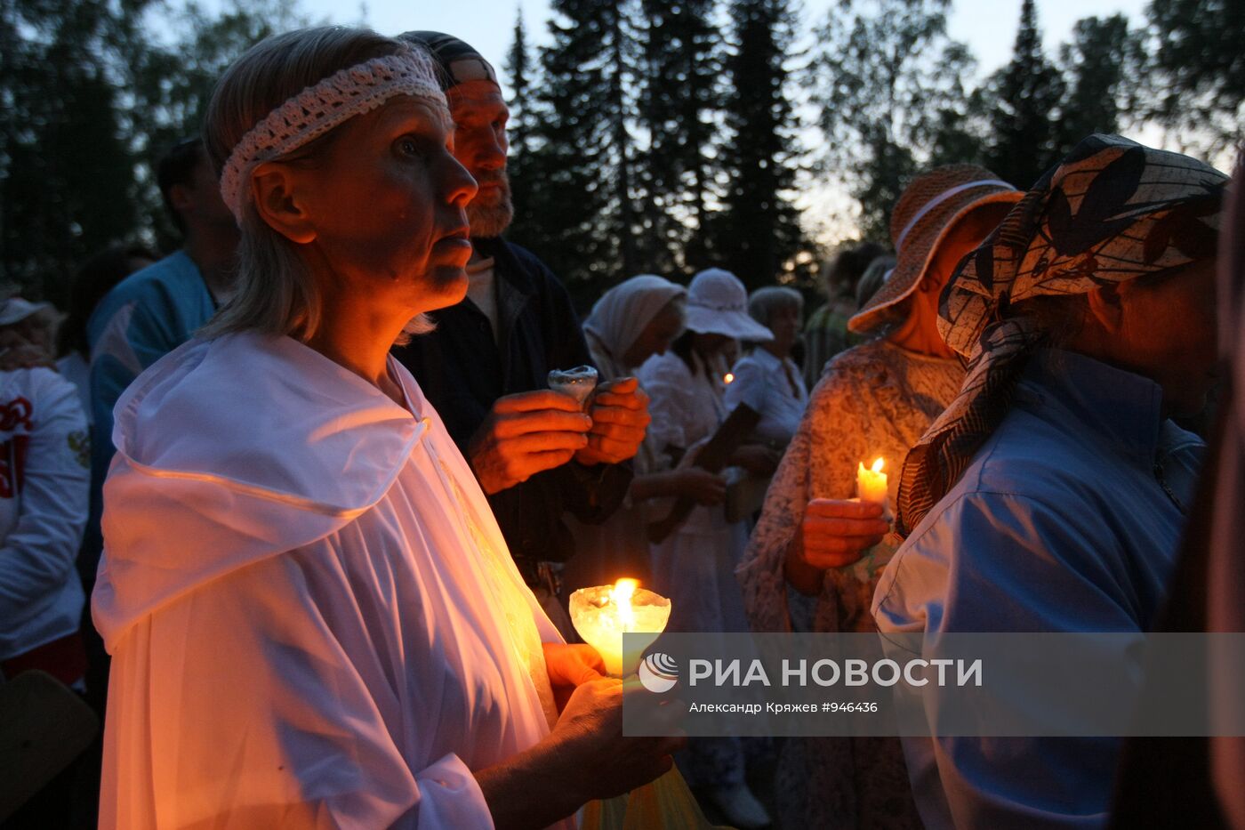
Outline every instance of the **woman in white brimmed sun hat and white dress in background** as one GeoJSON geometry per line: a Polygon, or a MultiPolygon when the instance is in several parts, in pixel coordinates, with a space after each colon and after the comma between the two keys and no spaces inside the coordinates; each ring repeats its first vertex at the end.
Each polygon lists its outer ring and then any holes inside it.
{"type": "MultiPolygon", "coordinates": [[[[726,420],[727,348],[738,340],[773,339],[769,329],[748,317],[743,283],[721,268],[708,268],[692,278],[686,327],[669,351],[649,358],[640,369],[640,385],[651,398],[652,422],[646,440],[657,454],[660,469],[690,464],[698,445],[726,420]]],[[[746,445],[735,451],[731,461],[768,475],[769,452],[762,445],[746,445]]],[[[706,489],[686,521],[652,546],[654,586],[670,597],[672,606],[667,631],[747,631],[740,587],[732,575],[748,531],[743,521],[726,521],[720,503],[723,495],[706,489]]],[[[758,828],[769,823],[745,780],[745,745],[738,738],[692,740],[679,764],[690,784],[711,788],[710,796],[732,825],[758,828]]]]}

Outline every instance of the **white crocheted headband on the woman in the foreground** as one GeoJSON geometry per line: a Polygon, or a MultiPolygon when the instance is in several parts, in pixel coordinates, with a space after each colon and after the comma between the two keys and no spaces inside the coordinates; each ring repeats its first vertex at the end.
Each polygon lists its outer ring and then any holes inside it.
{"type": "Polygon", "coordinates": [[[269,112],[242,137],[220,174],[220,196],[238,224],[243,204],[250,197],[247,187],[250,172],[258,165],[298,150],[398,95],[446,105],[435,65],[426,52],[410,50],[346,67],[269,112]]]}

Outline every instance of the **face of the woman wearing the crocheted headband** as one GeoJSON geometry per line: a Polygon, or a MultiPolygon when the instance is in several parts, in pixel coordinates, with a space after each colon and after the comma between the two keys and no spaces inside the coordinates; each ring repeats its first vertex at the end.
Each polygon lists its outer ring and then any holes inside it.
{"type": "Polygon", "coordinates": [[[467,290],[464,207],[476,182],[453,157],[448,121],[410,96],[351,118],[314,163],[291,166],[314,229],[310,257],[330,293],[411,312],[452,305],[467,290]]]}

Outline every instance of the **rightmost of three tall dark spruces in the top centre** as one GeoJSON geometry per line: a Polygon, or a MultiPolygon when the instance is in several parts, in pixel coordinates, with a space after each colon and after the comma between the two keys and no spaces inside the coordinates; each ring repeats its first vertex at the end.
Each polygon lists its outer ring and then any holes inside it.
{"type": "Polygon", "coordinates": [[[720,264],[749,288],[771,285],[804,247],[792,203],[801,153],[787,96],[796,15],[786,0],[733,0],[721,158],[727,187],[715,222],[720,264]]]}

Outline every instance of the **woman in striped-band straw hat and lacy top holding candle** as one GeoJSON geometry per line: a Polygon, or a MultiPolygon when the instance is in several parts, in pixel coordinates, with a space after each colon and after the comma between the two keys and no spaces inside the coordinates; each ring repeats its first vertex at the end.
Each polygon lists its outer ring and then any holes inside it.
{"type": "MultiPolygon", "coordinates": [[[[890,465],[893,503],[899,464],[964,379],[937,334],[939,292],[1020,197],[987,169],[952,165],[918,176],[899,198],[894,272],[850,320],[854,332],[886,333],[827,365],[740,567],[753,631],[792,629],[788,584],[815,597],[813,631],[874,631],[869,602],[894,548],[879,545],[883,508],[847,501],[857,466],[879,456],[890,465]]],[[[920,826],[895,739],[789,740],[778,788],[791,826],[920,826]]]]}

